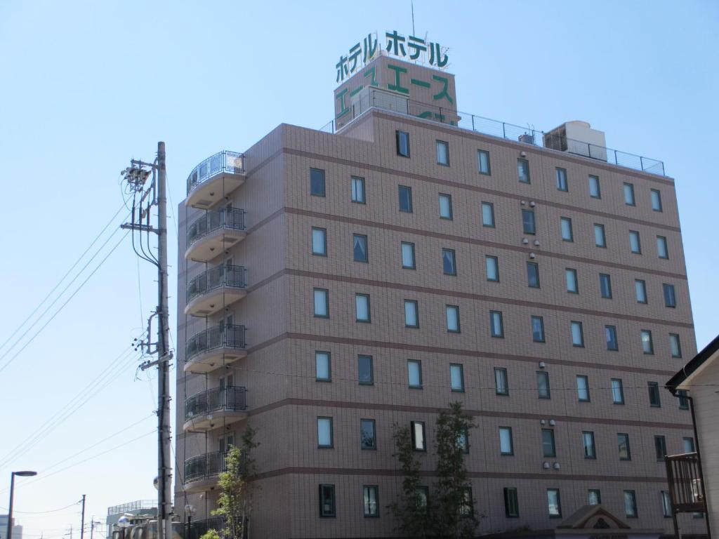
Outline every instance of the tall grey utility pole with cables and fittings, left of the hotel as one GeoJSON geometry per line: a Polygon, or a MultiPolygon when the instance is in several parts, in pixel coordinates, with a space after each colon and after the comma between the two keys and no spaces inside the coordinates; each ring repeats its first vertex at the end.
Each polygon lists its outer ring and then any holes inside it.
{"type": "Polygon", "coordinates": [[[172,539],[172,470],[170,461],[170,324],[168,308],[168,208],[167,168],[165,165],[165,142],[157,142],[157,159],[153,163],[131,160],[123,171],[133,192],[132,222],[121,228],[133,231],[132,247],[142,259],[157,267],[157,309],[147,321],[147,341],[140,340],[135,349],[142,348],[147,354],[157,354],[155,361],[145,361],[142,370],[157,365],[157,535],[159,539],[172,539]],[[152,183],[145,188],[145,181],[152,172],[152,183]],[[139,197],[139,200],[138,200],[139,197]],[[137,207],[136,207],[137,203],[137,207]],[[150,208],[157,206],[157,226],[150,226],[150,208]],[[143,222],[144,221],[144,222],[143,222]],[[139,249],[134,233],[138,232],[139,249]],[[150,250],[150,232],[157,234],[157,257],[150,250]],[[147,251],[142,235],[147,234],[147,251]],[[141,254],[142,252],[142,254],[141,254]],[[157,341],[152,342],[152,318],[157,317],[157,341]],[[153,349],[154,346],[154,349],[153,349]]]}

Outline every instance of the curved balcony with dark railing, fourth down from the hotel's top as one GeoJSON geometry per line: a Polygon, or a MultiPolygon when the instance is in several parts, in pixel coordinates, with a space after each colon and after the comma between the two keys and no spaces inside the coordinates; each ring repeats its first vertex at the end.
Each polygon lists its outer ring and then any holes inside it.
{"type": "Polygon", "coordinates": [[[247,357],[244,326],[222,324],[194,335],[185,347],[184,372],[211,372],[247,357]]]}

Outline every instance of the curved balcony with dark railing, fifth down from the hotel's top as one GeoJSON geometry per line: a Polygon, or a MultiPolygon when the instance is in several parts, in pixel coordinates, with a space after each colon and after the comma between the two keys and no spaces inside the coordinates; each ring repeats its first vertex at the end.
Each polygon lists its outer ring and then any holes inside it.
{"type": "Polygon", "coordinates": [[[247,417],[247,390],[244,387],[215,387],[185,400],[184,430],[211,430],[247,417]]]}

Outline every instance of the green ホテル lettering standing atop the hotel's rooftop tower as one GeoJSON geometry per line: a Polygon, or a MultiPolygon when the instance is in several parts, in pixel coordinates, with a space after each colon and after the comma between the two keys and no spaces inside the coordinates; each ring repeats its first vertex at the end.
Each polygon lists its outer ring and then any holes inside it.
{"type": "MultiPolygon", "coordinates": [[[[426,39],[415,37],[413,35],[404,37],[398,34],[397,30],[385,32],[387,44],[384,50],[393,56],[400,58],[409,58],[409,60],[427,61],[429,65],[434,65],[439,69],[446,67],[449,58],[447,57],[447,48],[441,47],[439,43],[427,42],[426,39]]],[[[375,57],[381,54],[378,47],[377,32],[367,34],[362,42],[357,42],[349,47],[347,55],[340,55],[339,62],[334,66],[337,70],[336,82],[341,83],[345,78],[349,78],[362,66],[370,63],[375,57]],[[360,55],[362,60],[360,61],[360,55]]]]}

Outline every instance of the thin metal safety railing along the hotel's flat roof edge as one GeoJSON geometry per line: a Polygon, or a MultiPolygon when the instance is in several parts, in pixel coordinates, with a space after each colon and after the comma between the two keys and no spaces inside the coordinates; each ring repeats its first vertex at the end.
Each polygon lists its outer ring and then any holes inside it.
{"type": "Polygon", "coordinates": [[[398,96],[383,90],[370,89],[359,93],[356,101],[349,107],[347,113],[339,119],[332,120],[320,128],[320,131],[336,133],[365,111],[376,108],[394,111],[408,116],[430,119],[441,124],[457,126],[492,137],[513,140],[524,144],[532,144],[547,149],[557,149],[583,157],[590,157],[610,165],[643,170],[650,174],[664,176],[664,162],[642,155],[620,152],[618,149],[588,144],[567,137],[557,137],[554,133],[545,133],[533,127],[508,124],[505,121],[493,120],[477,114],[459,112],[455,109],[440,106],[431,106],[406,97],[398,96]]]}

